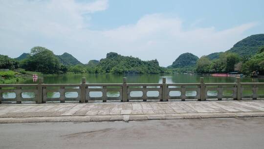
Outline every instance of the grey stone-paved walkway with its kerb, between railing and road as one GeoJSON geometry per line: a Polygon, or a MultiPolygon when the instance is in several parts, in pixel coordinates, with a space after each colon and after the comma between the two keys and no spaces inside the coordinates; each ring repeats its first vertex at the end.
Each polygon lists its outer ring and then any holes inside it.
{"type": "Polygon", "coordinates": [[[0,104],[0,123],[264,117],[264,100],[0,104]]]}

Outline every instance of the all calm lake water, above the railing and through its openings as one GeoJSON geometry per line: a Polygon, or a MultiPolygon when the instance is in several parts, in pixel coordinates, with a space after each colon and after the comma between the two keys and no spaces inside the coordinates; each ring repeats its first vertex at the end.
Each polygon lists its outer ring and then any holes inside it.
{"type": "MultiPolygon", "coordinates": [[[[200,77],[204,77],[205,83],[232,83],[236,81],[235,77],[214,77],[208,75],[96,75],[96,74],[73,74],[73,75],[43,75],[40,77],[44,77],[44,83],[46,84],[57,84],[57,83],[81,83],[82,77],[86,77],[87,83],[122,83],[123,77],[127,77],[128,83],[162,83],[162,78],[165,77],[167,83],[198,83],[200,77]]],[[[250,77],[242,77],[241,82],[264,82],[264,78],[250,78],[250,77]]],[[[28,78],[23,82],[19,82],[23,84],[31,84],[36,83],[33,82],[32,78],[28,78]]],[[[180,93],[170,94],[171,96],[178,96],[180,93]]],[[[216,95],[217,92],[208,92],[208,95],[216,95]]],[[[232,94],[232,93],[225,93],[232,94]]],[[[250,94],[250,93],[248,93],[250,94]]],[[[196,95],[195,91],[186,92],[187,96],[196,95]]],[[[60,96],[57,92],[48,93],[49,98],[58,98],[60,96]]],[[[67,92],[67,98],[74,98],[77,96],[75,92],[67,92]]],[[[101,94],[93,93],[90,96],[92,97],[101,97],[101,94]]],[[[118,92],[108,92],[109,97],[118,97],[118,92]]],[[[140,93],[134,92],[131,96],[140,96],[140,93]]],[[[148,95],[149,96],[149,95],[148,95]]],[[[150,95],[155,96],[155,95],[150,95]]],[[[3,98],[14,98],[14,93],[4,93],[3,98]]],[[[32,93],[22,93],[23,98],[32,98],[34,94],[32,93]]]]}

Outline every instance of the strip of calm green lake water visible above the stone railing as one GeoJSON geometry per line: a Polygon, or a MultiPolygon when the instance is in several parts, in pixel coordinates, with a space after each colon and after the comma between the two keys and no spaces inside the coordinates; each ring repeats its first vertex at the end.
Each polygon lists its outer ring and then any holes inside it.
{"type": "MultiPolygon", "coordinates": [[[[235,77],[214,77],[209,75],[96,75],[96,74],[73,74],[73,75],[43,75],[44,83],[81,83],[82,77],[86,77],[87,83],[122,83],[123,77],[127,77],[128,83],[161,83],[162,78],[166,77],[167,83],[198,83],[200,77],[204,77],[205,83],[231,83],[235,82],[235,77]]],[[[242,77],[241,82],[264,82],[264,78],[242,77]]],[[[23,82],[34,83],[33,79],[23,82]]]]}

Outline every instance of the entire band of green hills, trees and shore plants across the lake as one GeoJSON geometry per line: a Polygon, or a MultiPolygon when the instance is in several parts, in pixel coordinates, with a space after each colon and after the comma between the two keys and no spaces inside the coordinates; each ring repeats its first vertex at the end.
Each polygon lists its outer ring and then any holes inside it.
{"type": "Polygon", "coordinates": [[[106,58],[82,64],[69,53],[55,55],[44,47],[33,47],[18,58],[0,55],[0,83],[16,83],[36,75],[48,74],[227,74],[237,72],[264,75],[264,34],[246,37],[225,52],[200,58],[183,53],[168,67],[156,59],[143,61],[109,52],[106,58]]]}

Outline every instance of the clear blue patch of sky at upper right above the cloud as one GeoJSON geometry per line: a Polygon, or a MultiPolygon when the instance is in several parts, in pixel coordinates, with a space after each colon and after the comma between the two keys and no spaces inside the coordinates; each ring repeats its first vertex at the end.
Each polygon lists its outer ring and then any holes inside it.
{"type": "Polygon", "coordinates": [[[146,14],[165,13],[181,18],[185,29],[214,26],[221,30],[264,23],[263,6],[264,0],[110,0],[108,9],[92,16],[91,27],[110,29],[134,24],[146,14]]]}

